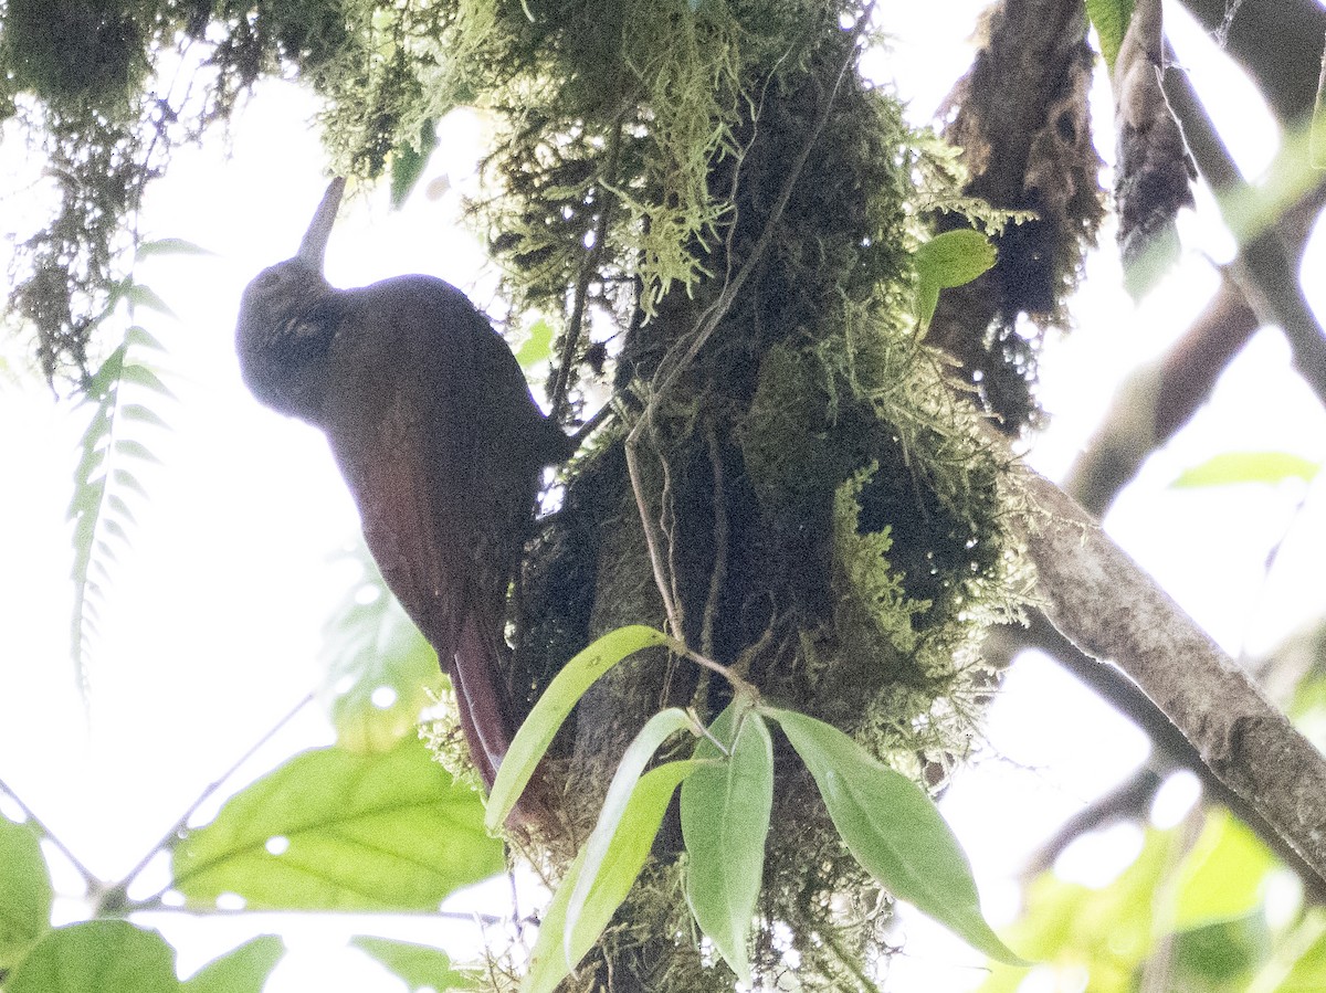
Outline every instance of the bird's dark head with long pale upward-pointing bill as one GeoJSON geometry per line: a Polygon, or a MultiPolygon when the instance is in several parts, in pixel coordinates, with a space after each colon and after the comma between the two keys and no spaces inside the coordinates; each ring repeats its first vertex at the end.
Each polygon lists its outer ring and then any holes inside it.
{"type": "Polygon", "coordinates": [[[329,306],[335,290],[322,276],[322,260],[343,191],[345,179],[333,179],[294,257],[264,269],[244,289],[235,329],[240,373],[253,395],[313,422],[335,330],[329,306]]]}

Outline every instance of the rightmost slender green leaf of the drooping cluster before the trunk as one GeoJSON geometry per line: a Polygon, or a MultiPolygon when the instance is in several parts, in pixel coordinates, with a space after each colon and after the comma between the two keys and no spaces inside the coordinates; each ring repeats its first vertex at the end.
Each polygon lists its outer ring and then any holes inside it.
{"type": "Polygon", "coordinates": [[[1022,964],[981,916],[967,855],[924,790],[833,725],[793,711],[764,713],[782,727],[834,827],[870,875],[972,948],[1022,964]]]}

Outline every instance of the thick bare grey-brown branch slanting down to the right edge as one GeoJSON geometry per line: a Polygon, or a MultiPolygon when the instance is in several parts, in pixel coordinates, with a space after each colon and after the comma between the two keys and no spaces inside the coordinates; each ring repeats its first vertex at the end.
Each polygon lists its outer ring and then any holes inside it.
{"type": "Polygon", "coordinates": [[[1025,467],[1018,483],[1018,524],[1050,622],[1123,670],[1212,774],[1326,880],[1326,758],[1071,497],[1025,467]]]}

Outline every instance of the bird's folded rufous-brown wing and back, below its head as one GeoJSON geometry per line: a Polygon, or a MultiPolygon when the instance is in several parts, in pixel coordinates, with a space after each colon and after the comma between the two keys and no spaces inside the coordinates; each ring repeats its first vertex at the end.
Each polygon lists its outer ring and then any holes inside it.
{"type": "Polygon", "coordinates": [[[512,728],[505,590],[484,589],[477,561],[488,554],[480,460],[495,453],[481,439],[476,339],[457,325],[475,314],[463,298],[410,289],[358,292],[373,296],[342,326],[325,428],[369,550],[451,675],[471,753],[491,782],[512,728]]]}

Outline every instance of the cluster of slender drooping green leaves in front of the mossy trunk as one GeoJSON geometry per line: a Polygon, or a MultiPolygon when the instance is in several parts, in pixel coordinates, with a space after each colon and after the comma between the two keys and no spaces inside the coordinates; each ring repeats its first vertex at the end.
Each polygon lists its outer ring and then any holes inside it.
{"type": "MultiPolygon", "coordinates": [[[[668,644],[691,655],[662,632],[634,626],[609,632],[568,663],[499,770],[488,801],[491,827],[505,821],[583,692],[627,655],[668,644]]],[[[687,904],[717,955],[752,985],[749,947],[774,793],[769,723],[805,762],[842,842],[878,883],[993,957],[1021,964],[981,916],[971,868],[924,790],[843,732],[764,704],[741,680],[733,681],[733,703],[708,728],[668,708],[626,749],[598,822],[544,916],[524,993],[552,993],[594,947],[640,875],[679,785],[687,904]],[[648,768],[664,742],[683,732],[696,740],[691,757],[648,768]]]]}

